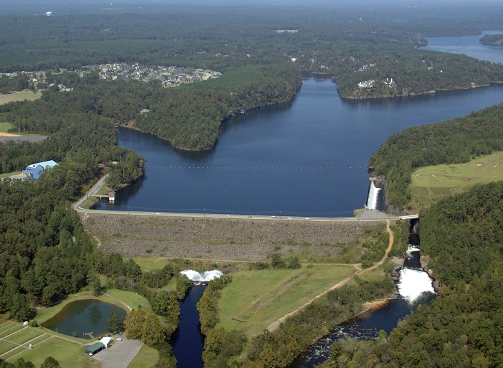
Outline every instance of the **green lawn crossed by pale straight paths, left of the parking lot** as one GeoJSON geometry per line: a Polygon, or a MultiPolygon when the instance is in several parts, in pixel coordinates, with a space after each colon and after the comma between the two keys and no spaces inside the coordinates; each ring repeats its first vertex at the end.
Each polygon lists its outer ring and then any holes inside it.
{"type": "Polygon", "coordinates": [[[18,322],[3,322],[0,336],[0,358],[7,362],[23,358],[40,367],[48,356],[53,356],[61,367],[99,367],[98,362],[84,354],[85,340],[74,342],[61,334],[56,336],[53,331],[25,327],[18,322]]]}

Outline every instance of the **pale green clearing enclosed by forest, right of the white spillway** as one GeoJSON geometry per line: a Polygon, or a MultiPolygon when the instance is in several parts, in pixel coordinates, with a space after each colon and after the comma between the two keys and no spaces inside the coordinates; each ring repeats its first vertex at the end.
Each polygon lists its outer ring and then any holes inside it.
{"type": "Polygon", "coordinates": [[[466,164],[427,166],[412,174],[412,207],[421,209],[475,184],[503,180],[503,152],[477,157],[466,164]]]}

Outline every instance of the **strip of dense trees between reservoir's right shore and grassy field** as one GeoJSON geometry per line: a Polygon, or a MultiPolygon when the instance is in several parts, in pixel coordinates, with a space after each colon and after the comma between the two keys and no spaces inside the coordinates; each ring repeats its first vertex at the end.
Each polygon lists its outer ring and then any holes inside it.
{"type": "Polygon", "coordinates": [[[391,135],[370,157],[368,166],[372,175],[386,177],[390,206],[404,209],[411,200],[410,176],[415,168],[459,164],[494,151],[503,151],[502,104],[391,135]]]}

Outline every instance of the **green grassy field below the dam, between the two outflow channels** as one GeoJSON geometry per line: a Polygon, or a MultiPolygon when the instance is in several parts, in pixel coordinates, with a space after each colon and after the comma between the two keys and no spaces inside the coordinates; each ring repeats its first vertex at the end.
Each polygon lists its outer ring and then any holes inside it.
{"type": "Polygon", "coordinates": [[[233,273],[218,302],[220,325],[256,336],[355,271],[349,265],[303,264],[301,269],[233,273]]]}

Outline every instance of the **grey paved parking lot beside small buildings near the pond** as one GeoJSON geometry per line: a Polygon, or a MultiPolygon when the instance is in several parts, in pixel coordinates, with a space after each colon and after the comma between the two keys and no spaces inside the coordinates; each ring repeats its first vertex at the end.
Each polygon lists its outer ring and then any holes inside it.
{"type": "Polygon", "coordinates": [[[111,347],[99,351],[93,358],[102,363],[102,368],[126,368],[142,346],[141,341],[115,335],[111,347]],[[117,338],[122,338],[122,341],[117,341],[117,338]]]}

